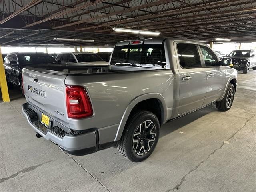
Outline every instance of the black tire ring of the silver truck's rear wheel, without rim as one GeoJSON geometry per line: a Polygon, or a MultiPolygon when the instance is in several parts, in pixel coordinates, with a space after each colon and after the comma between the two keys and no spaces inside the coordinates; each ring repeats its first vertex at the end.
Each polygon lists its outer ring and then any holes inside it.
{"type": "Polygon", "coordinates": [[[128,156],[130,156],[130,159],[132,159],[134,162],[140,162],[145,160],[146,158],[148,158],[152,152],[154,151],[154,148],[156,147],[156,144],[158,142],[158,138],[159,138],[159,128],[160,128],[160,124],[158,121],[158,118],[151,112],[146,112],[142,117],[140,116],[140,114],[138,114],[135,118],[133,118],[127,127],[127,143],[126,143],[126,151],[128,152],[128,156]],[[133,149],[133,137],[134,137],[134,133],[137,130],[138,126],[146,121],[146,120],[151,120],[155,126],[156,126],[156,139],[154,144],[152,145],[152,147],[150,148],[150,151],[147,152],[145,155],[137,155],[134,152],[133,149]]]}

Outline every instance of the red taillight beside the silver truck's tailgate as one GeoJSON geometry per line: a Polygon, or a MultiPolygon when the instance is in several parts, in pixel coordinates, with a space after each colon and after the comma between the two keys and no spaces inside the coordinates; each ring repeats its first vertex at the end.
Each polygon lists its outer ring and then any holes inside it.
{"type": "Polygon", "coordinates": [[[66,104],[69,118],[80,119],[93,114],[88,94],[81,86],[66,86],[66,104]]]}

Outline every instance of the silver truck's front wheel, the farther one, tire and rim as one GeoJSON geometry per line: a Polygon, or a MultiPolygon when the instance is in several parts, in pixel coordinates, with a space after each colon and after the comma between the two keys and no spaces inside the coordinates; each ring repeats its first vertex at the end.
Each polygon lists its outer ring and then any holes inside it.
{"type": "Polygon", "coordinates": [[[235,87],[233,84],[229,84],[224,98],[221,101],[215,103],[216,108],[220,111],[230,110],[235,96],[235,87]]]}

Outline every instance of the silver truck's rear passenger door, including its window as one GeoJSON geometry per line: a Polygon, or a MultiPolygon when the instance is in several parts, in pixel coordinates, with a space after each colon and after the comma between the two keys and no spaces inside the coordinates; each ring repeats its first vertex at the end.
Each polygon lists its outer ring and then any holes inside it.
{"type": "Polygon", "coordinates": [[[180,42],[176,47],[180,65],[180,115],[203,105],[206,96],[206,70],[202,66],[198,45],[180,42]]]}

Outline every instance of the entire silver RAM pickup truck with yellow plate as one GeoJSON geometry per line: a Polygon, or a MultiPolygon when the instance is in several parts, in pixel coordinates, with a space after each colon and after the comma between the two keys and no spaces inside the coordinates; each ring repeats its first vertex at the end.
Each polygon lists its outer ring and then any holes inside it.
{"type": "Polygon", "coordinates": [[[114,146],[140,162],[167,121],[214,103],[231,108],[237,72],[229,59],[190,40],[122,41],[108,66],[25,67],[22,110],[38,138],[70,154],[114,146]]]}

